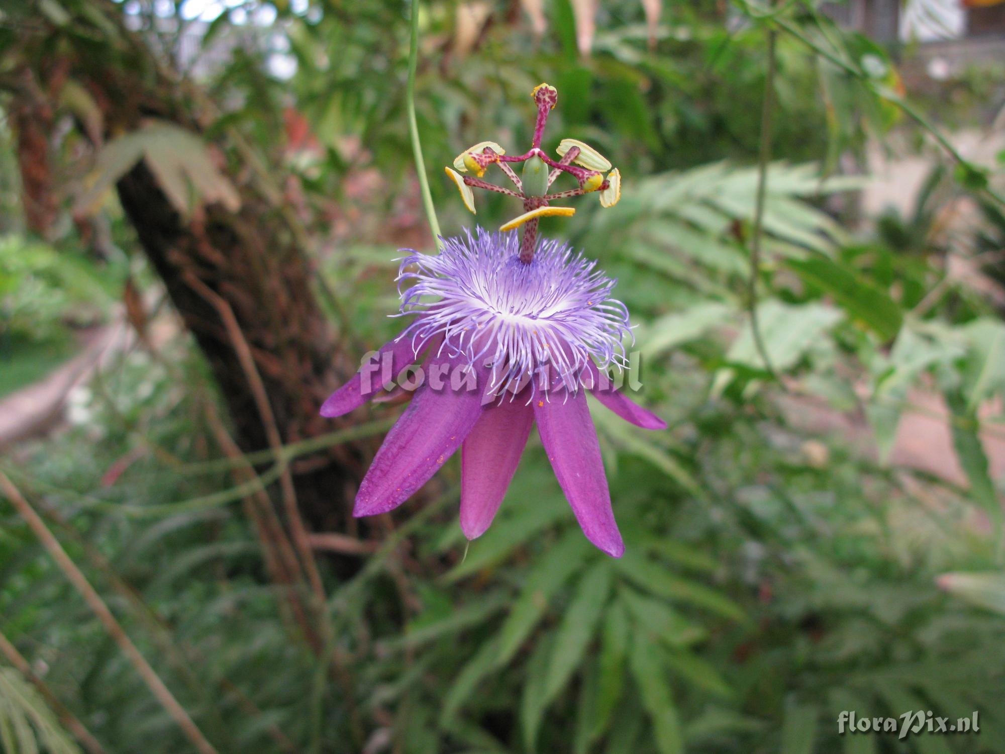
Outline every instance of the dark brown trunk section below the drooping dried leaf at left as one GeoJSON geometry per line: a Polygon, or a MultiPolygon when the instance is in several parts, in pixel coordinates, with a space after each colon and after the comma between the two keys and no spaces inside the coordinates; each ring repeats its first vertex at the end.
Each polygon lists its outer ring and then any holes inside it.
{"type": "MultiPolygon", "coordinates": [[[[175,309],[213,370],[243,450],[269,446],[232,335],[211,300],[233,312],[254,356],[283,442],[331,431],[318,408],[346,363],[318,305],[311,264],[293,245],[276,208],[242,196],[241,210],[219,205],[185,223],[141,162],[119,181],[119,199],[175,309]],[[208,292],[211,292],[207,295],[208,292]]],[[[296,498],[318,528],[345,525],[347,493],[358,481],[352,451],[337,448],[293,465],[296,498]]]]}

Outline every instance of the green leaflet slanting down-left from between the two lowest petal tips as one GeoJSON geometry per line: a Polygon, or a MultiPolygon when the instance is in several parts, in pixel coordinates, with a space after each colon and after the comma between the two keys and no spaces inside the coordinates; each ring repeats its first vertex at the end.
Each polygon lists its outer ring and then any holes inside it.
{"type": "Polygon", "coordinates": [[[513,658],[545,614],[552,596],[591,554],[592,548],[583,533],[576,529],[549,548],[528,573],[524,590],[513,603],[499,630],[497,666],[506,665],[513,658]]]}

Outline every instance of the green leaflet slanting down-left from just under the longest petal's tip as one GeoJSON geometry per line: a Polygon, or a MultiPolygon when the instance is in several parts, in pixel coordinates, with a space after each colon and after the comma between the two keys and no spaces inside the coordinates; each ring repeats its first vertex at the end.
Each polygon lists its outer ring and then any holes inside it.
{"type": "Polygon", "coordinates": [[[546,701],[555,699],[582,662],[610,591],[611,567],[608,561],[602,560],[583,574],[555,632],[555,650],[545,682],[546,701]]]}

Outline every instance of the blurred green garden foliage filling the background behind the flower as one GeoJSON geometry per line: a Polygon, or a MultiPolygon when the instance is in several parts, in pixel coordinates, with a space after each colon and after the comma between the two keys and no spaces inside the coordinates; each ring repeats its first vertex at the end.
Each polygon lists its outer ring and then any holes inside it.
{"type": "MultiPolygon", "coordinates": [[[[264,187],[316,270],[305,295],[357,363],[395,331],[398,249],[432,250],[406,128],[408,4],[2,8],[0,396],[86,357],[87,334],[122,337],[66,420],[0,461],[0,749],[198,745],[40,547],[29,507],[203,751],[1005,751],[1002,156],[970,161],[943,131],[1000,139],[1000,66],[916,97],[907,53],[813,0],[422,3],[416,106],[441,226],[472,218],[439,166],[483,139],[529,144],[528,93],[556,85],[549,139],[595,145],[624,186],[617,207],[587,197],[545,232],[619,278],[644,400],[670,429],[595,415],[621,560],[584,540],[532,439],[469,547],[456,460],[393,517],[315,531],[319,604],[303,552],[299,577],[273,570],[296,526],[275,481],[322,448],[365,460],[398,409],[237,451],[226,388],[172,312],[122,180],[143,161],[192,226],[264,187]],[[174,104],[138,97],[134,127],[111,124],[62,56],[169,81],[174,104]],[[915,198],[863,200],[876,155],[924,166],[915,198]],[[976,710],[981,730],[840,736],[842,710],[976,710]]],[[[515,213],[477,201],[486,227],[515,213]]],[[[351,473],[343,486],[319,492],[347,521],[351,473]]]]}

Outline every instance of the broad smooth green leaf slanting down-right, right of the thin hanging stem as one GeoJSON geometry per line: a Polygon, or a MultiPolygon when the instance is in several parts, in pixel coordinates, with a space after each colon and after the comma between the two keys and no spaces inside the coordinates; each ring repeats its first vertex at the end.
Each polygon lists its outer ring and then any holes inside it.
{"type": "Polygon", "coordinates": [[[808,284],[834,299],[854,319],[867,325],[883,341],[896,337],[903,315],[884,292],[847,265],[826,256],[788,259],[786,264],[808,284]]]}

